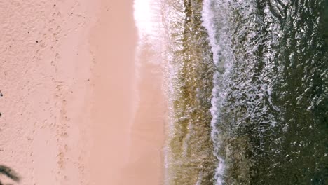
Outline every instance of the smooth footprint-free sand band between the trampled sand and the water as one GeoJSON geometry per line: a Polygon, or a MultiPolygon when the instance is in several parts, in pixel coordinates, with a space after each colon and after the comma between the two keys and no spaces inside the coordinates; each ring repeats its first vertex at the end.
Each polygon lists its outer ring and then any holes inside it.
{"type": "Polygon", "coordinates": [[[153,74],[160,66],[136,64],[136,60],[148,62],[153,51],[145,50],[141,58],[136,58],[139,36],[133,1],[103,2],[93,38],[96,43],[93,47],[97,48],[93,53],[96,60],[93,121],[102,123],[96,123],[99,128],[93,126],[91,179],[95,184],[163,184],[164,131],[163,117],[159,115],[165,105],[161,99],[161,76],[153,74]],[[113,27],[114,22],[118,25],[113,27]],[[107,107],[113,102],[121,105],[107,107]]]}

